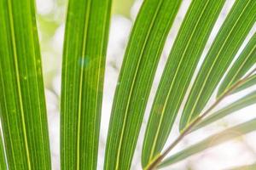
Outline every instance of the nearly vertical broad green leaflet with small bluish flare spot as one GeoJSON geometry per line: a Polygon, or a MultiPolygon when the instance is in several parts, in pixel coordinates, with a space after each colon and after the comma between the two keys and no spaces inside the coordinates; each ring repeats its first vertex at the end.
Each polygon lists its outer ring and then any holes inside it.
{"type": "Polygon", "coordinates": [[[70,0],[62,63],[61,169],[96,169],[111,0],[70,0]]]}

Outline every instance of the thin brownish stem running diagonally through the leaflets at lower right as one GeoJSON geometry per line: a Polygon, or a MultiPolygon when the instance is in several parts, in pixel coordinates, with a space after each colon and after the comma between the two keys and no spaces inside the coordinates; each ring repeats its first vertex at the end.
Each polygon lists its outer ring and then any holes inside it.
{"type": "Polygon", "coordinates": [[[256,68],[253,69],[253,71],[249,72],[246,77],[242,78],[240,81],[236,82],[230,88],[228,88],[222,95],[218,97],[218,99],[207,109],[207,111],[203,112],[201,116],[197,116],[192,122],[189,123],[187,127],[183,129],[183,132],[180,133],[180,135],[175,139],[172,144],[170,144],[166,150],[159,156],[157,156],[154,161],[150,162],[147,167],[144,168],[144,170],[153,170],[155,167],[157,167],[160,162],[168,155],[168,153],[190,132],[190,130],[198,123],[200,122],[205,116],[208,115],[209,112],[212,111],[225,97],[227,97],[233,90],[241,86],[244,82],[247,81],[247,78],[249,78],[253,73],[256,71],[256,68]]]}

